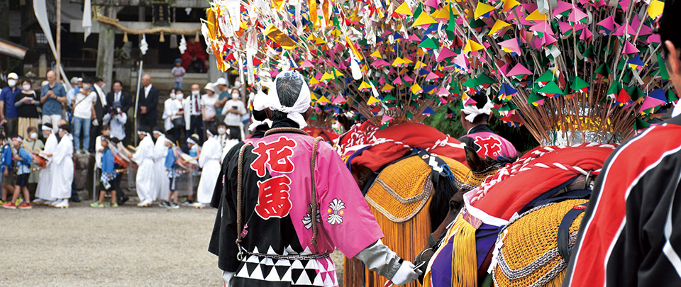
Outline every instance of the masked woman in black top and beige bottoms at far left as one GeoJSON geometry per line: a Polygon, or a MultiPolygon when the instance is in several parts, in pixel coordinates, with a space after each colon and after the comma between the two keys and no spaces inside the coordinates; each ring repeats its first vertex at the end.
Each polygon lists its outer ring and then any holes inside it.
{"type": "Polygon", "coordinates": [[[21,81],[21,93],[17,94],[14,99],[14,107],[18,115],[18,135],[23,138],[30,137],[27,130],[29,127],[38,126],[38,118],[40,117],[38,113],[40,99],[31,89],[31,86],[31,80],[23,79],[21,81]]]}

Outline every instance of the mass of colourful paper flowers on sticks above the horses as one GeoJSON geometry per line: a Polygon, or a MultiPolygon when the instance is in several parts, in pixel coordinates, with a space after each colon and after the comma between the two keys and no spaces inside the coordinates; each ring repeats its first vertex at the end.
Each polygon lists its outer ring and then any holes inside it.
{"type": "Polygon", "coordinates": [[[420,121],[484,93],[540,142],[612,142],[677,100],[653,34],[662,7],[216,0],[202,31],[221,69],[234,66],[249,83],[298,69],[327,113],[420,121]]]}

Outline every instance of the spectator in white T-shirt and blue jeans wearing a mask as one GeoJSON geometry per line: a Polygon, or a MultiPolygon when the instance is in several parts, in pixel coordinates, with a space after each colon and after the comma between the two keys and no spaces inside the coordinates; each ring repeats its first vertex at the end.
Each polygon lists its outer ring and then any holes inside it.
{"type": "Polygon", "coordinates": [[[95,119],[94,103],[97,94],[92,89],[92,78],[83,80],[81,89],[73,101],[73,144],[77,153],[89,152],[90,147],[90,124],[95,119]],[[83,135],[82,148],[80,135],[83,135]]]}

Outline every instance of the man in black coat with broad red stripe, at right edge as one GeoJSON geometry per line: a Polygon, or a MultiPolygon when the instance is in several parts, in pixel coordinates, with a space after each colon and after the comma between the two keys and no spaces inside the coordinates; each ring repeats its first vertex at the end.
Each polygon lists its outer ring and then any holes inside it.
{"type": "MultiPolygon", "coordinates": [[[[665,1],[659,33],[677,91],[679,15],[681,3],[665,1]]],[[[582,219],[563,286],[681,286],[680,114],[677,104],[672,118],[610,155],[582,219]]]]}

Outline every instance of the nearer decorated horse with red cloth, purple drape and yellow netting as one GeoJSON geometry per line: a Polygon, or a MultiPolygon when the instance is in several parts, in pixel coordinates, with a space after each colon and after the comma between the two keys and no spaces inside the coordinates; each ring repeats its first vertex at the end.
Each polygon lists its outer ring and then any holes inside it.
{"type": "Polygon", "coordinates": [[[428,261],[423,285],[560,286],[591,183],[613,148],[538,147],[487,177],[428,240],[416,261],[428,261]]]}

